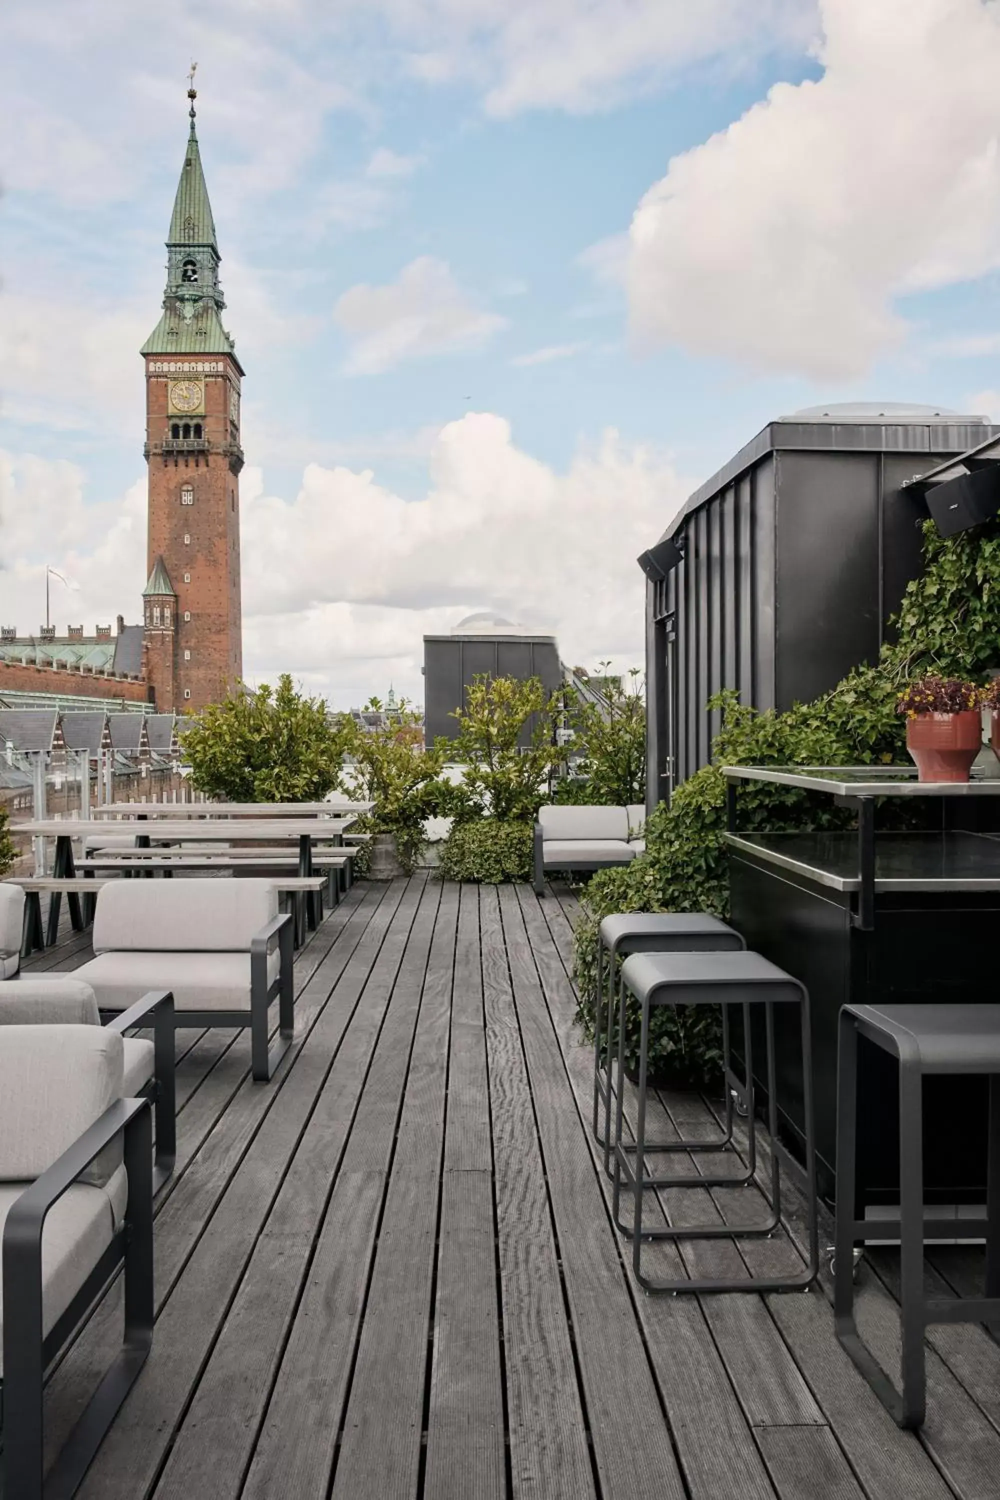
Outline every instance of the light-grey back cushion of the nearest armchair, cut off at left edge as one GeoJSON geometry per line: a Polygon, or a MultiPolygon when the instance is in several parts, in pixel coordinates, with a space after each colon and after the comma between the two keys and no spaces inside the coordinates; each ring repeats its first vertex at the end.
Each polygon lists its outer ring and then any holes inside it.
{"type": "MultiPolygon", "coordinates": [[[[9,1026],[4,1030],[0,1180],[37,1178],[121,1098],[123,1056],[121,1036],[103,1026],[9,1026]]],[[[105,1158],[102,1164],[106,1180],[115,1162],[105,1158]]]]}

